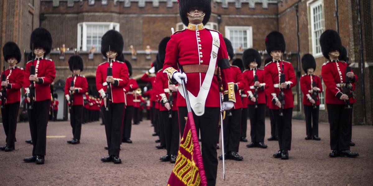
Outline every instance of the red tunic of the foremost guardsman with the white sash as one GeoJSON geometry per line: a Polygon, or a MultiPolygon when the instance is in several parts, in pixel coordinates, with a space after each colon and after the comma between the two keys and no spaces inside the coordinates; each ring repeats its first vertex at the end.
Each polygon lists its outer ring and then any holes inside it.
{"type": "MultiPolygon", "coordinates": [[[[219,33],[220,47],[217,52],[217,61],[215,67],[221,66],[221,76],[223,89],[228,91],[228,83],[233,83],[231,70],[228,63],[228,52],[222,34],[219,33]],[[228,64],[228,65],[227,65],[228,64]]],[[[185,29],[171,35],[170,41],[166,47],[166,58],[164,60],[163,70],[172,67],[178,70],[178,64],[184,65],[209,65],[212,51],[212,35],[210,30],[201,29],[192,31],[185,29]],[[196,39],[196,35],[198,38],[196,39]],[[200,53],[198,53],[200,52],[200,53]],[[202,63],[201,63],[202,61],[202,63]]],[[[198,96],[201,84],[206,77],[206,73],[187,73],[188,82],[186,88],[194,96],[198,96]]],[[[209,93],[207,94],[205,107],[220,107],[218,77],[213,76],[209,93]]],[[[227,100],[228,101],[228,100],[227,100]]],[[[184,97],[179,96],[176,103],[179,106],[186,106],[184,97]]]]}

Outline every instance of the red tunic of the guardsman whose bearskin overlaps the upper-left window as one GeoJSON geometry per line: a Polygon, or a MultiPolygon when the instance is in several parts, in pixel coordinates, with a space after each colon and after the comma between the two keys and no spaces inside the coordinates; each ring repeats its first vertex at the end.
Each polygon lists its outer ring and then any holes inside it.
{"type": "MultiPolygon", "coordinates": [[[[99,64],[96,70],[96,87],[102,98],[107,89],[107,67],[109,67],[108,61],[99,64]]],[[[123,87],[125,87],[129,81],[127,65],[124,62],[112,60],[111,67],[113,68],[113,78],[116,82],[115,84],[110,84],[112,102],[125,103],[123,87]]]]}

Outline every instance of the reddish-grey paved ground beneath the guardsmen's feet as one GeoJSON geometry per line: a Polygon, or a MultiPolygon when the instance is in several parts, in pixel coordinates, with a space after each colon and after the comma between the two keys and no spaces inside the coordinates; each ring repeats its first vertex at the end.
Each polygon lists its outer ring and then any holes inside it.
{"type": "MultiPolygon", "coordinates": [[[[0,128],[3,145],[5,135],[0,128]]],[[[352,138],[357,145],[351,150],[360,153],[358,158],[329,158],[329,125],[320,123],[319,130],[322,141],[305,141],[304,122],[294,120],[289,160],[272,158],[278,150],[276,141],[266,141],[267,149],[248,149],[246,143],[241,142],[239,154],[244,160],[226,161],[226,181],[222,179],[219,161],[217,185],[371,185],[373,127],[353,127],[352,138]]],[[[50,122],[47,135],[52,138],[47,138],[46,163],[36,165],[22,161],[31,155],[32,145],[24,142],[30,138],[28,123],[19,123],[16,150],[0,152],[0,185],[165,186],[173,165],[159,161],[166,151],[154,148],[156,138],[151,137],[152,131],[149,121],[132,126],[134,143],[122,144],[123,163],[116,165],[100,161],[107,151],[103,148],[104,126],[98,122],[83,125],[78,145],[66,143],[72,137],[68,122],[50,122]]],[[[269,121],[266,121],[266,138],[269,134],[269,121]]]]}

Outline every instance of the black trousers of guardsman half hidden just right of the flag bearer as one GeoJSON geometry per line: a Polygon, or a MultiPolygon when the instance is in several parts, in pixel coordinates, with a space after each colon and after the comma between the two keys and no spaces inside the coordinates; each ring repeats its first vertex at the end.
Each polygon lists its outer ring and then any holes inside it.
{"type": "Polygon", "coordinates": [[[242,109],[234,109],[230,110],[230,112],[232,116],[225,115],[225,119],[223,120],[225,153],[229,151],[238,152],[239,147],[242,109]]]}

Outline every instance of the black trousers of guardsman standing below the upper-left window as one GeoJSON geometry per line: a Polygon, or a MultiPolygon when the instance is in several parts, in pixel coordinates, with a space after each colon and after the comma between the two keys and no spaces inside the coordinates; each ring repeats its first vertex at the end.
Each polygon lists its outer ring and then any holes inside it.
{"type": "Polygon", "coordinates": [[[119,155],[120,143],[122,142],[123,111],[124,103],[110,103],[109,110],[104,111],[105,132],[107,147],[109,147],[109,155],[119,155]]]}

